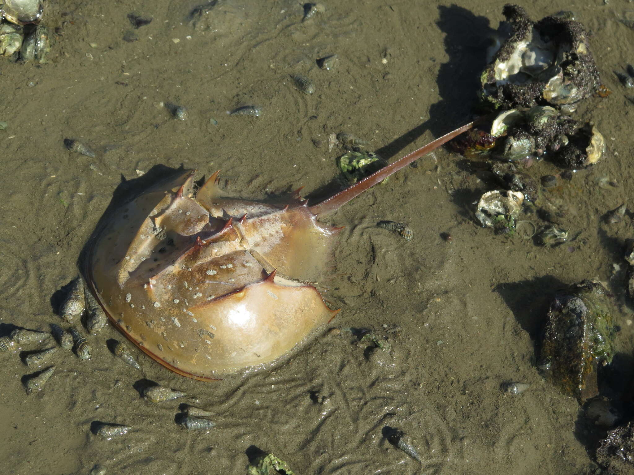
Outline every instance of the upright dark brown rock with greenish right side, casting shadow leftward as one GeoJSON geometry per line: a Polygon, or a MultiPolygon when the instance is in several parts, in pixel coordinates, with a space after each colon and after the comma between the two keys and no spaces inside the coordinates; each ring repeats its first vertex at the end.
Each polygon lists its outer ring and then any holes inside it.
{"type": "Polygon", "coordinates": [[[598,394],[597,367],[612,361],[614,328],[604,288],[582,281],[550,304],[541,360],[562,390],[583,402],[598,394]]]}

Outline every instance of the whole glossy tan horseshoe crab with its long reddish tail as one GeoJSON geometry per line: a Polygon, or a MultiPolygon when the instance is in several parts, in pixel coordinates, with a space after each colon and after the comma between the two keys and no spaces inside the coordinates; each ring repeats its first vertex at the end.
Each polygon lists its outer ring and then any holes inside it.
{"type": "Polygon", "coordinates": [[[303,282],[338,229],[318,218],[472,127],[464,125],[309,206],[221,196],[193,171],[122,206],[87,245],[87,286],[115,327],[160,364],[202,381],[291,352],[339,312],[303,282]]]}

